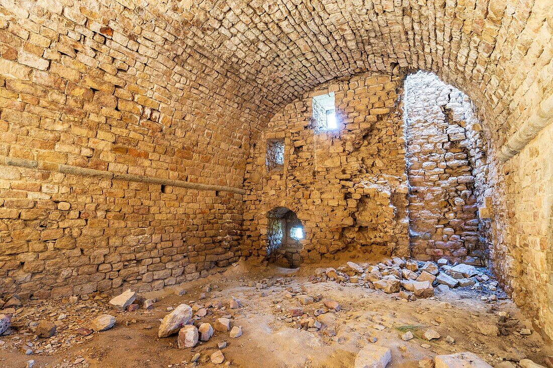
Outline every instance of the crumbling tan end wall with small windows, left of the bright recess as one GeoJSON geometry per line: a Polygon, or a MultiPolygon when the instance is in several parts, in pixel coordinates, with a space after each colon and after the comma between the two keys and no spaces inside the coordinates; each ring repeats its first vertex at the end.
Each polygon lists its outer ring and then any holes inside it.
{"type": "Polygon", "coordinates": [[[408,255],[403,78],[367,73],[321,85],[276,114],[252,145],[244,188],[244,254],[267,256],[267,212],[294,211],[306,261],[346,246],[408,255]],[[338,129],[319,129],[312,97],[335,92],[338,129]],[[285,139],[280,172],[267,144],[285,139]]]}

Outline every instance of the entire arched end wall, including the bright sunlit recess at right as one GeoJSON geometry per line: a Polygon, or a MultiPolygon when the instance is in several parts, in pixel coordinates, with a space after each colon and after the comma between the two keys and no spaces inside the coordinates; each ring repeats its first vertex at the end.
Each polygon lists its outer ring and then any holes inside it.
{"type": "Polygon", "coordinates": [[[304,224],[299,253],[307,261],[349,248],[485,264],[480,129],[466,95],[431,73],[366,73],[318,87],[276,114],[253,146],[244,255],[275,259],[290,236],[276,207],[304,224]],[[330,102],[340,129],[321,128],[330,102]],[[268,159],[277,142],[278,171],[268,159]]]}

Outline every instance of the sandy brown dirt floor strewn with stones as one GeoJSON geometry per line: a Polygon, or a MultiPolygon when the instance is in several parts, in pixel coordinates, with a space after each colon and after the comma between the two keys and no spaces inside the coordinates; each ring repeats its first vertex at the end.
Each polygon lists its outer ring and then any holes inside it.
{"type": "MultiPolygon", "coordinates": [[[[336,262],[333,266],[344,263],[336,262]]],[[[315,267],[286,270],[239,262],[224,274],[163,291],[140,293],[144,298],[157,298],[150,311],[138,309],[117,313],[107,304],[109,296],[103,295],[78,301],[24,303],[12,318],[9,334],[0,337],[0,367],[23,368],[29,360],[34,360],[35,368],[225,365],[349,368],[353,367],[358,351],[367,344],[387,346],[392,350],[389,367],[418,367],[419,360],[460,351],[472,351],[491,365],[509,359],[513,354],[509,353],[511,348],[535,362],[543,362],[545,356],[553,354],[552,346],[534,332],[531,324],[500,290],[496,293],[497,301],[491,301],[493,298],[487,290],[470,287],[452,290],[440,287],[436,288],[434,297],[407,301],[399,298],[398,293],[387,294],[335,281],[312,282],[309,280],[312,275],[315,275],[315,267]],[[183,289],[186,294],[178,295],[183,289]],[[312,296],[315,301],[301,306],[299,295],[312,296]],[[229,309],[231,297],[237,298],[242,306],[229,309]],[[341,310],[328,311],[322,301],[317,301],[318,297],[338,302],[341,310]],[[196,310],[206,307],[207,315],[196,317],[200,322],[213,323],[218,317],[232,316],[231,327],[241,326],[243,335],[230,338],[228,332],[216,331],[210,340],[186,349],[178,348],[177,335],[159,339],[159,320],[169,313],[168,307],[174,308],[181,303],[192,307],[196,304],[196,310]],[[302,317],[290,317],[289,309],[299,306],[311,317],[326,312],[316,317],[322,324],[320,330],[301,329],[302,317]],[[314,313],[317,309],[322,311],[314,313]],[[509,314],[507,322],[513,328],[507,335],[483,335],[476,324],[495,325],[500,312],[509,314]],[[113,328],[88,336],[79,332],[79,328],[87,327],[92,318],[102,313],[116,317],[113,328]],[[60,321],[54,337],[35,337],[31,327],[43,319],[60,321]],[[422,335],[429,328],[441,337],[431,341],[424,339],[422,335]],[[517,332],[521,328],[529,328],[532,333],[521,335],[517,332]],[[414,338],[402,340],[401,336],[409,330],[414,338]],[[447,342],[446,337],[455,343],[447,342]],[[227,342],[221,349],[225,362],[214,365],[210,355],[218,350],[218,343],[222,341],[227,342]],[[197,353],[199,360],[191,362],[197,353]]]]}

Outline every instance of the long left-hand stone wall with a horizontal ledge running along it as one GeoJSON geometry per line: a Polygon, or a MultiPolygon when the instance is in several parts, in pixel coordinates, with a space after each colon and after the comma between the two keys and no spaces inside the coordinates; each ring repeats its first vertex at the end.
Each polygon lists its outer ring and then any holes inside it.
{"type": "Polygon", "coordinates": [[[0,295],[150,290],[239,256],[233,187],[263,119],[170,15],[115,1],[3,8],[0,295]]]}

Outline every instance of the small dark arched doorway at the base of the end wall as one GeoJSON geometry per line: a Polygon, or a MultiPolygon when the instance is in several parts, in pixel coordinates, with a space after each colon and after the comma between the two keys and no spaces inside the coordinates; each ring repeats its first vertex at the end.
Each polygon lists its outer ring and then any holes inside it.
{"type": "Polygon", "coordinates": [[[303,259],[300,255],[304,227],[298,215],[286,207],[275,207],[267,213],[267,260],[295,269],[303,259]]]}

